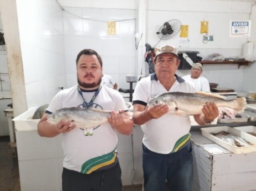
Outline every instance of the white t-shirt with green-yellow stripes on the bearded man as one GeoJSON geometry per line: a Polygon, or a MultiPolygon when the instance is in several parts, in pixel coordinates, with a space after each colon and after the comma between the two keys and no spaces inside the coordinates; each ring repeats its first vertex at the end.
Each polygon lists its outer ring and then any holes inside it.
{"type": "MultiPolygon", "coordinates": [[[[86,103],[89,103],[96,90],[82,90],[86,103]]],[[[64,107],[83,107],[82,96],[77,86],[62,90],[54,96],[46,113],[53,113],[64,107]]],[[[111,88],[102,86],[93,101],[92,107],[104,110],[127,109],[121,94],[111,88]]],[[[84,130],[75,128],[62,134],[62,148],[64,151],[63,166],[80,173],[91,173],[116,163],[116,130],[109,123],[94,127],[93,135],[85,136],[84,130]]]]}

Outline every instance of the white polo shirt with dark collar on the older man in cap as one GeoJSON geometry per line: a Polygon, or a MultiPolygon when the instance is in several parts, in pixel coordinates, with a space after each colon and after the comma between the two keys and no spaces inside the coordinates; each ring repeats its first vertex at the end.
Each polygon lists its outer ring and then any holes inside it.
{"type": "MultiPolygon", "coordinates": [[[[176,75],[176,82],[167,91],[157,80],[156,74],[141,79],[134,90],[133,103],[147,105],[148,101],[164,92],[196,92],[193,84],[176,75]]],[[[168,154],[178,151],[190,140],[189,115],[165,114],[158,119],[151,119],[141,125],[143,144],[156,153],[168,154]]]]}

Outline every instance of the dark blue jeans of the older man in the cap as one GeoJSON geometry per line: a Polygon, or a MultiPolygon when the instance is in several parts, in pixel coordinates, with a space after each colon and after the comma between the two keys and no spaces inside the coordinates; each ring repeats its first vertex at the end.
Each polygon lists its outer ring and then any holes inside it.
{"type": "Polygon", "coordinates": [[[191,141],[180,151],[159,154],[143,147],[144,190],[162,191],[167,179],[170,191],[190,191],[193,178],[191,141]]]}

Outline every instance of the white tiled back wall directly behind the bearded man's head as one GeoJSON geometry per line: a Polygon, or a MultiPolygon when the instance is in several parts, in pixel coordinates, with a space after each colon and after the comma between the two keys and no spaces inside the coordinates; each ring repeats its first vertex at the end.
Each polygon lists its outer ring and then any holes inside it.
{"type": "Polygon", "coordinates": [[[108,35],[107,23],[102,21],[135,18],[135,10],[74,7],[64,9],[72,13],[63,14],[67,86],[77,83],[75,75],[72,75],[76,74],[77,54],[85,48],[90,48],[102,56],[103,72],[114,78],[118,88],[128,89],[129,84],[125,76],[134,75],[136,65],[135,20],[116,22],[116,35],[108,35]],[[75,80],[70,79],[73,77],[75,80]]]}

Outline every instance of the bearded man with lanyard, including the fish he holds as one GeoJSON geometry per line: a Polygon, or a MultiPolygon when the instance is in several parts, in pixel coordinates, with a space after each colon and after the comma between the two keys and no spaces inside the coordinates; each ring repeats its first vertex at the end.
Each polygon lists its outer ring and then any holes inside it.
{"type": "Polygon", "coordinates": [[[116,131],[130,135],[133,121],[121,94],[100,85],[102,59],[97,52],[82,50],[76,69],[78,86],[54,96],[38,123],[38,134],[62,134],[63,191],[121,191],[116,131]]]}

